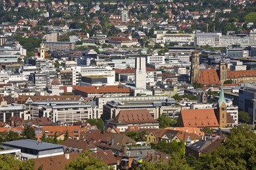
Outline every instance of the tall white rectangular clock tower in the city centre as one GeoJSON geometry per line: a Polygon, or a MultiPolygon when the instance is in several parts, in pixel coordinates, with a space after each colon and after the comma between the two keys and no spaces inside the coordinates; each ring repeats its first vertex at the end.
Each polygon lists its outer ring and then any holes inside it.
{"type": "Polygon", "coordinates": [[[146,58],[137,57],[135,60],[135,86],[146,89],[146,58]]]}

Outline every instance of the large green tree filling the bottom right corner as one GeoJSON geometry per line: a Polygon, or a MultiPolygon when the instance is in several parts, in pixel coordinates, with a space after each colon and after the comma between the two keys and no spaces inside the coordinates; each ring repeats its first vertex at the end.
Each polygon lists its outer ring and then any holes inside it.
{"type": "Polygon", "coordinates": [[[256,134],[246,124],[230,130],[228,140],[205,159],[207,169],[255,169],[256,134]]]}

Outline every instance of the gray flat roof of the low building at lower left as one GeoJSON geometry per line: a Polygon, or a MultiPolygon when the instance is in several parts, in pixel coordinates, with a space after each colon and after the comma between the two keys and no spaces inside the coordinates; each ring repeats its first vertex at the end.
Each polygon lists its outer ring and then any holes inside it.
{"type": "Polygon", "coordinates": [[[15,148],[23,147],[23,148],[35,149],[35,150],[48,150],[48,149],[64,147],[63,145],[51,144],[48,142],[38,142],[36,140],[14,140],[11,142],[3,142],[2,145],[15,147],[15,148]]]}

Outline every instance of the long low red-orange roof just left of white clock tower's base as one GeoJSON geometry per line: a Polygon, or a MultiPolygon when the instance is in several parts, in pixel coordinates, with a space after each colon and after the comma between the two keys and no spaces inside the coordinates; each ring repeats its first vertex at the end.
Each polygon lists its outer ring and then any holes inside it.
{"type": "Polygon", "coordinates": [[[119,86],[78,86],[75,90],[82,91],[86,94],[115,94],[129,93],[130,89],[121,89],[119,86]]]}

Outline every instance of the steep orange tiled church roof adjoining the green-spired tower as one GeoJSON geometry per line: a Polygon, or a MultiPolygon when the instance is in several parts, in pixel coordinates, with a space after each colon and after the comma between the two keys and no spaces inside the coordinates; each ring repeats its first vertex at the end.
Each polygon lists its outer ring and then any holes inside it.
{"type": "Polygon", "coordinates": [[[184,127],[219,127],[215,109],[212,108],[181,110],[180,116],[184,127]]]}

